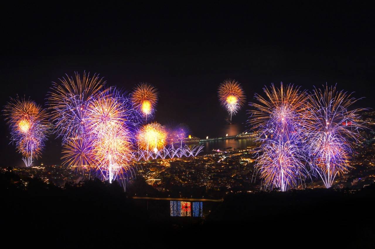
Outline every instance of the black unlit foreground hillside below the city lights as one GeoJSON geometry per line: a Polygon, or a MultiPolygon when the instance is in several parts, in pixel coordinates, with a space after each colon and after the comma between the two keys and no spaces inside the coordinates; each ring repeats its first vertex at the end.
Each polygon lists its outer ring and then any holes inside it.
{"type": "Polygon", "coordinates": [[[58,188],[31,178],[25,186],[24,180],[0,174],[1,237],[16,248],[374,245],[375,185],[235,194],[201,219],[170,217],[168,203],[146,206],[116,183],[93,180],[58,188]]]}

